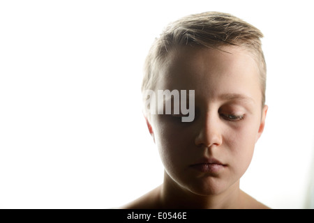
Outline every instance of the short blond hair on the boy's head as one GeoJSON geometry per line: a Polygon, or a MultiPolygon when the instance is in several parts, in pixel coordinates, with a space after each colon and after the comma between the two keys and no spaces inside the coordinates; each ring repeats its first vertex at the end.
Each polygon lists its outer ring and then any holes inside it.
{"type": "Polygon", "coordinates": [[[168,24],[156,38],[144,63],[142,93],[155,89],[158,72],[167,54],[177,46],[190,45],[219,49],[226,45],[244,47],[253,54],[260,72],[262,107],[265,104],[266,62],[262,52],[262,32],[233,15],[206,12],[188,15],[168,24]]]}

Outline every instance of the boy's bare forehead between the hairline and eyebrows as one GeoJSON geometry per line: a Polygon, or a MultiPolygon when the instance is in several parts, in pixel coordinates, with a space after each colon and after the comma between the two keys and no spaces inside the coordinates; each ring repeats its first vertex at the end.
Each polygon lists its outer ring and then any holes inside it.
{"type": "Polygon", "coordinates": [[[178,47],[165,58],[157,89],[195,90],[195,97],[246,95],[260,103],[259,72],[241,47],[178,47]]]}

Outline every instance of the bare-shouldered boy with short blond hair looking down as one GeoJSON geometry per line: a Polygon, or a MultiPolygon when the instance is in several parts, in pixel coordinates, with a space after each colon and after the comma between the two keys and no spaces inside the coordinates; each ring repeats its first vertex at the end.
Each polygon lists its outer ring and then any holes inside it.
{"type": "Polygon", "coordinates": [[[145,106],[164,182],[123,208],[267,208],[239,189],[268,108],[260,38],[251,24],[208,12],[173,22],[156,39],[145,63],[144,100],[147,91],[194,90],[184,97],[193,116],[184,122],[182,107],[174,111],[174,93],[170,113],[145,106]]]}

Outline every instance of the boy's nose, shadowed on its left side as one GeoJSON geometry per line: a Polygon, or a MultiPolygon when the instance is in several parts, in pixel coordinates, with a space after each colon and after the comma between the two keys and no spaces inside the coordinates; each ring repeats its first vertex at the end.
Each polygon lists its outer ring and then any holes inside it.
{"type": "Polygon", "coordinates": [[[196,146],[220,146],[223,143],[223,137],[218,114],[206,114],[200,123],[200,129],[195,137],[196,146]]]}

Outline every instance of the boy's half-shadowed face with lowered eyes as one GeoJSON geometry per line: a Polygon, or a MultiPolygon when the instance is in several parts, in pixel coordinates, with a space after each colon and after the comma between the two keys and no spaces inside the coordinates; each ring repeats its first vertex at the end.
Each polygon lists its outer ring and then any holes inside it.
{"type": "Polygon", "coordinates": [[[167,178],[195,194],[239,183],[264,129],[267,106],[257,64],[239,47],[180,47],[167,57],[156,89],[195,90],[195,118],[151,115],[148,123],[167,178]]]}

